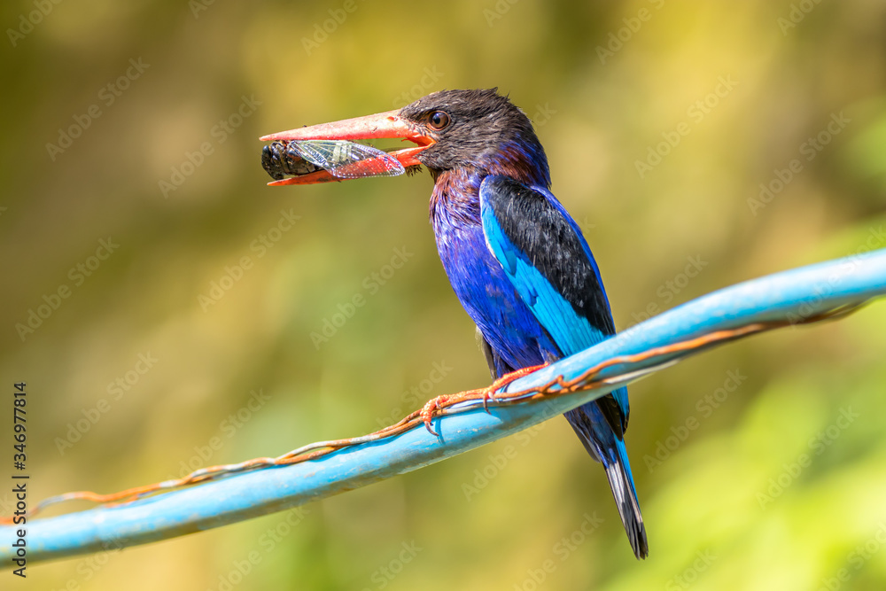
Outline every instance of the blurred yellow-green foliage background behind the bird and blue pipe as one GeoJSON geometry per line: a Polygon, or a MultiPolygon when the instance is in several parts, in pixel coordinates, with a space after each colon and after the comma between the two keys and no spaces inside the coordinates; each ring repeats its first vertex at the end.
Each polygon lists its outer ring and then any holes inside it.
{"type": "MultiPolygon", "coordinates": [[[[619,330],[886,246],[875,0],[0,14],[0,375],[28,384],[32,502],[362,434],[488,383],[427,222],[429,176],[269,189],[262,134],[499,87],[535,121],[619,330]]],[[[881,303],[633,385],[643,563],[558,417],[303,513],[35,565],[2,587],[882,589],[884,351],[881,303]]]]}

